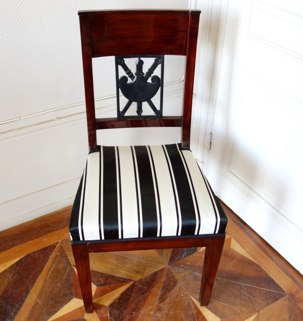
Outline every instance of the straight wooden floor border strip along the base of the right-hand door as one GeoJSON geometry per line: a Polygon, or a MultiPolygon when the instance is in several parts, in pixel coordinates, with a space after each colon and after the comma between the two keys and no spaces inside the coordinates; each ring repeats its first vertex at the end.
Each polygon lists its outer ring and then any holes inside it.
{"type": "Polygon", "coordinates": [[[232,220],[241,230],[254,242],[273,262],[279,266],[283,272],[303,290],[303,276],[285,258],[279,254],[270,244],[268,244],[257,232],[246,224],[235,212],[220,201],[228,219],[232,220]]]}

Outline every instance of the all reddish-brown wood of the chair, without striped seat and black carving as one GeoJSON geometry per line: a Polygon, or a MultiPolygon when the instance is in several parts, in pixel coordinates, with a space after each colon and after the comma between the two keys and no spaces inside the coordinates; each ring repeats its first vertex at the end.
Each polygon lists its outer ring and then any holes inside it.
{"type": "MultiPolygon", "coordinates": [[[[181,127],[182,148],[189,149],[198,10],[79,11],[88,145],[97,147],[96,129],[181,127]],[[153,27],[150,27],[153,26],[153,27]],[[145,39],[148,39],[147,41],[145,39]],[[182,116],[150,119],[95,118],[92,58],[122,55],[186,56],[182,116]]],[[[206,247],[200,304],[208,305],[223,250],[225,233],[204,236],[72,241],[84,307],[93,312],[90,252],[206,247]]]]}

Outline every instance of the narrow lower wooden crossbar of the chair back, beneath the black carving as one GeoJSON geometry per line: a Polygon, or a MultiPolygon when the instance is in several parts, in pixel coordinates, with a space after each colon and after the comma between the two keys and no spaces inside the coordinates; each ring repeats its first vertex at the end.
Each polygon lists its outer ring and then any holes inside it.
{"type": "Polygon", "coordinates": [[[131,127],[182,127],[182,116],[164,116],[161,119],[97,118],[96,129],[131,127]]]}

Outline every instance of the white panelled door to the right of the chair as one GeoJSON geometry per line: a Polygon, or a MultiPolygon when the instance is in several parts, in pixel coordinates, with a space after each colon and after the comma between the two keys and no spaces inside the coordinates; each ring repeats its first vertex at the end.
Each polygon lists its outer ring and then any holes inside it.
{"type": "Polygon", "coordinates": [[[222,1],[220,14],[206,174],[222,201],[303,273],[303,2],[222,1]]]}

